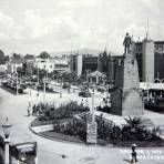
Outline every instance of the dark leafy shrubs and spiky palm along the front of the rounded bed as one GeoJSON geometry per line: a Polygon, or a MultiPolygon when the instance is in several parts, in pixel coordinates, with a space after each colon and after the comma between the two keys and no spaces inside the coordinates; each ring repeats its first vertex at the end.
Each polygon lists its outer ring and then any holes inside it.
{"type": "MultiPolygon", "coordinates": [[[[113,122],[106,122],[103,116],[96,117],[98,122],[98,139],[113,143],[114,145],[122,142],[161,142],[162,139],[157,135],[158,129],[148,131],[141,124],[137,117],[125,119],[127,125],[123,127],[115,125],[113,122]]],[[[69,123],[59,123],[59,117],[54,119],[54,131],[65,135],[73,135],[85,142],[86,140],[88,115],[81,119],[72,117],[69,123]]]]}

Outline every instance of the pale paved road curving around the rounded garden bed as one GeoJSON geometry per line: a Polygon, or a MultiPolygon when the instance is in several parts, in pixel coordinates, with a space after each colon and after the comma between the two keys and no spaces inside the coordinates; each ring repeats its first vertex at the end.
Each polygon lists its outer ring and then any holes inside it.
{"type": "MultiPolygon", "coordinates": [[[[29,130],[30,122],[34,119],[27,116],[27,107],[29,100],[41,101],[40,98],[35,98],[35,93],[32,92],[30,98],[28,94],[24,95],[12,95],[0,89],[0,121],[9,117],[13,124],[11,142],[20,143],[25,141],[37,141],[39,145],[38,161],[39,164],[127,164],[130,152],[123,151],[123,148],[113,147],[100,147],[100,146],[84,146],[71,143],[62,143],[50,141],[33,134],[29,130]],[[62,155],[65,155],[63,158],[62,155]]],[[[73,98],[73,95],[71,95],[73,98]]],[[[66,100],[64,94],[63,100],[66,100]]],[[[55,103],[59,102],[59,94],[53,95],[55,103]]],[[[71,99],[72,99],[71,98],[71,99]]],[[[50,95],[47,95],[50,100],[50,95]]],[[[52,95],[51,95],[52,99],[52,95]]],[[[75,99],[75,98],[74,98],[75,99]]],[[[0,124],[1,124],[0,122],[0,124]]],[[[0,129],[2,134],[2,130],[0,129]]],[[[127,148],[130,151],[130,148],[127,148]]],[[[147,150],[147,148],[146,148],[147,150]]],[[[148,157],[144,148],[145,157],[148,157]]],[[[158,150],[158,148],[155,148],[158,150]]],[[[163,152],[164,148],[160,148],[163,152]]],[[[151,151],[151,150],[148,150],[151,151]]],[[[157,154],[158,155],[158,154],[157,154]]],[[[143,156],[144,157],[144,156],[143,156]]],[[[140,160],[140,164],[163,164],[164,160],[140,160]]]]}

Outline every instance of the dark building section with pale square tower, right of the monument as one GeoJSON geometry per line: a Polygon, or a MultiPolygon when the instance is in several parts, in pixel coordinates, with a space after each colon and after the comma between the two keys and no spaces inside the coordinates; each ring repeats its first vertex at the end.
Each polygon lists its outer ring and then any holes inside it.
{"type": "Polygon", "coordinates": [[[164,41],[144,39],[135,43],[140,81],[156,82],[164,80],[164,41]]]}

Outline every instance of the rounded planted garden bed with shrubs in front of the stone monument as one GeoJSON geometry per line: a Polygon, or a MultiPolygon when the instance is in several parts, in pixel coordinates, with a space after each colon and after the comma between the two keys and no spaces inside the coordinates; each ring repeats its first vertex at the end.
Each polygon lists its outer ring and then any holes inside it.
{"type": "MultiPolygon", "coordinates": [[[[88,111],[82,105],[70,102],[55,110],[48,109],[41,117],[31,123],[31,126],[51,124],[53,125],[51,130],[40,132],[40,134],[52,140],[86,143],[88,123],[91,120],[88,111]]],[[[146,130],[140,117],[125,117],[124,120],[126,124],[119,126],[112,121],[106,122],[103,115],[95,117],[98,145],[112,144],[117,147],[130,147],[136,143],[141,147],[164,147],[164,140],[158,136],[158,127],[146,130]]]]}

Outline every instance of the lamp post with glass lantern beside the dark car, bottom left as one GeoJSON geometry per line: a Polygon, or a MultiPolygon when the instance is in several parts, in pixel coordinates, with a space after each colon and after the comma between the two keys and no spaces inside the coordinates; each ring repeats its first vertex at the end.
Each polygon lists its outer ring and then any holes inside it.
{"type": "Polygon", "coordinates": [[[8,122],[8,117],[6,122],[2,124],[3,133],[4,133],[4,145],[6,145],[6,156],[4,156],[4,164],[9,164],[9,143],[10,143],[10,133],[11,133],[12,124],[8,122]]]}

